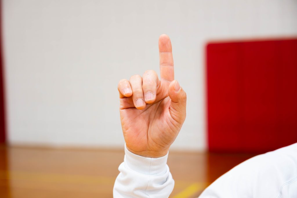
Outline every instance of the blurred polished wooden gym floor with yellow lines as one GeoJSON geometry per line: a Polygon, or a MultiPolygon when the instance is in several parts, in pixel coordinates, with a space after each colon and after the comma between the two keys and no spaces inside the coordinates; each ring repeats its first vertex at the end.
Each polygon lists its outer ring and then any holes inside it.
{"type": "MultiPolygon", "coordinates": [[[[170,197],[191,198],[252,154],[170,151],[170,197]]],[[[123,150],[0,146],[0,197],[112,197],[123,150]]]]}

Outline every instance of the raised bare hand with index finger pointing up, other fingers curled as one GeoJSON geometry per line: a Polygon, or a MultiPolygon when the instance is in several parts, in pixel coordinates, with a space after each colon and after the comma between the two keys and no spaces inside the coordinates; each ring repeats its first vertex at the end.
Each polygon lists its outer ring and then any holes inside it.
{"type": "Polygon", "coordinates": [[[161,80],[153,70],[118,84],[120,115],[127,149],[144,157],[168,152],[186,118],[187,96],[174,80],[170,39],[159,37],[161,80]]]}

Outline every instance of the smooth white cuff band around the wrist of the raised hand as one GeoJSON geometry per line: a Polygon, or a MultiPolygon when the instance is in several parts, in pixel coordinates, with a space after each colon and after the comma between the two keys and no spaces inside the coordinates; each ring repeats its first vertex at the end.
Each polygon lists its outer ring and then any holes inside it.
{"type": "Polygon", "coordinates": [[[145,175],[157,175],[166,170],[168,153],[159,158],[149,158],[130,152],[125,144],[124,162],[129,169],[145,175]]]}

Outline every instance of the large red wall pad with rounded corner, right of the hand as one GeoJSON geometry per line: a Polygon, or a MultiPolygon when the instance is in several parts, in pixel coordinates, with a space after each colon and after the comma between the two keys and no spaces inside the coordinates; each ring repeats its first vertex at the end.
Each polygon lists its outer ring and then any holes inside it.
{"type": "Polygon", "coordinates": [[[209,151],[297,142],[297,39],[209,43],[206,53],[209,151]]]}

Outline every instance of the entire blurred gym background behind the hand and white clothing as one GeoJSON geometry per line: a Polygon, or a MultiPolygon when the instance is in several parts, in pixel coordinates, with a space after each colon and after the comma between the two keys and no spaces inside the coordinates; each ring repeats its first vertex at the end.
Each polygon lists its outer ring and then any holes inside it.
{"type": "Polygon", "coordinates": [[[112,197],[117,83],[159,74],[160,34],[187,92],[172,197],[297,142],[296,0],[2,0],[3,197],[112,197]]]}

